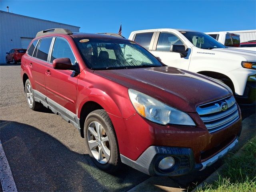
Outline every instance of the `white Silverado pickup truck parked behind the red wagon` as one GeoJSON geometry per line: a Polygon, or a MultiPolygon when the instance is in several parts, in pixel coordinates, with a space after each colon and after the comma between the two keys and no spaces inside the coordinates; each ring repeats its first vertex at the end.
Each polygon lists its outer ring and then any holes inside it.
{"type": "Polygon", "coordinates": [[[134,31],[130,40],[168,66],[218,79],[236,98],[255,104],[256,52],[226,48],[202,32],[181,29],[134,31]]]}

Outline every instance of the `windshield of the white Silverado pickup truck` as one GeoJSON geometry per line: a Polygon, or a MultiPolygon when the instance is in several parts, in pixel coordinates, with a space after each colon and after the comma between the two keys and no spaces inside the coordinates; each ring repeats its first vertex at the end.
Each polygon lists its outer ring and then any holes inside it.
{"type": "Polygon", "coordinates": [[[180,31],[192,44],[201,49],[226,48],[220,42],[201,32],[180,31]]]}

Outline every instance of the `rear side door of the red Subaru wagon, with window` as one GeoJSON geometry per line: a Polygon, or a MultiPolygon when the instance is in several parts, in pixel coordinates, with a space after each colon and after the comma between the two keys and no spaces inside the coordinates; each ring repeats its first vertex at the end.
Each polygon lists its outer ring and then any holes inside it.
{"type": "MultiPolygon", "coordinates": [[[[45,90],[45,66],[47,65],[47,58],[50,49],[50,44],[52,42],[52,37],[42,38],[37,42],[36,48],[30,58],[28,66],[32,74],[32,80],[35,82],[36,89],[41,94],[46,95],[45,90]]],[[[36,42],[33,42],[33,44],[36,42]]],[[[42,95],[41,95],[42,96],[42,95]]]]}

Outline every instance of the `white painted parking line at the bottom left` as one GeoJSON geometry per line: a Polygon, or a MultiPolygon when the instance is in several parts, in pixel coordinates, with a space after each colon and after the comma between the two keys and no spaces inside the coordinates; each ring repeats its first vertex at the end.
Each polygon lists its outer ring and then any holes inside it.
{"type": "Polygon", "coordinates": [[[12,171],[4,153],[2,142],[0,140],[0,181],[3,192],[17,192],[16,184],[12,177],[12,171]]]}

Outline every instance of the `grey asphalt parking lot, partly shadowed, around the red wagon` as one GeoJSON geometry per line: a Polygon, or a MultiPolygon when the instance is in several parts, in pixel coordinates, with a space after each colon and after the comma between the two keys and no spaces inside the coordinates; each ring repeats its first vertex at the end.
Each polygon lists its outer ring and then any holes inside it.
{"type": "MultiPolygon", "coordinates": [[[[19,65],[0,66],[0,98],[0,140],[18,191],[127,191],[149,178],[124,165],[114,175],[96,168],[76,128],[46,108],[28,108],[19,65]]],[[[245,108],[244,118],[253,113],[245,108]]]]}

